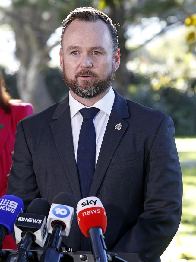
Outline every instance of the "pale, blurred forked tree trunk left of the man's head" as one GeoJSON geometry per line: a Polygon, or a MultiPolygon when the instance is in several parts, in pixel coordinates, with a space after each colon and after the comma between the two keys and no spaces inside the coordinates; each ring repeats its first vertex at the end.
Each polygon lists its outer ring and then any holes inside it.
{"type": "Polygon", "coordinates": [[[15,55],[20,61],[17,90],[23,102],[33,104],[35,112],[54,103],[41,72],[50,60],[49,51],[58,44],[47,46],[47,40],[56,28],[56,11],[50,11],[51,18],[45,25],[39,8],[29,4],[5,11],[15,32],[15,55]]]}

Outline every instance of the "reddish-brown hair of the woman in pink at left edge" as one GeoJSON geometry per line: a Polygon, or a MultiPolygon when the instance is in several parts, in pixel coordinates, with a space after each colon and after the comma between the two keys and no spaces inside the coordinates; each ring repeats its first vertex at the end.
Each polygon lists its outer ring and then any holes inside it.
{"type": "Polygon", "coordinates": [[[0,71],[0,107],[4,109],[6,114],[10,113],[10,99],[11,96],[5,89],[5,80],[0,71]]]}

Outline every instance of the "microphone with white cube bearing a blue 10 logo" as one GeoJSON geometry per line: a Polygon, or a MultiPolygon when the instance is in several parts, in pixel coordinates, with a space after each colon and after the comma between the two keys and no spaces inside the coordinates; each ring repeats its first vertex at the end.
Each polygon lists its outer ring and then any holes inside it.
{"type": "Polygon", "coordinates": [[[69,235],[76,208],[75,198],[68,192],[59,193],[52,202],[47,219],[47,231],[52,234],[40,262],[57,262],[63,258],[63,254],[58,252],[62,242],[61,236],[69,235]]]}

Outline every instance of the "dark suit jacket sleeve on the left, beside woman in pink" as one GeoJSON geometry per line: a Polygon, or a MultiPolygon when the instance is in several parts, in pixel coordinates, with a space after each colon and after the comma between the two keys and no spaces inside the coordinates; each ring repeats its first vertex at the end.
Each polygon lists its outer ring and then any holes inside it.
{"type": "Polygon", "coordinates": [[[22,121],[17,125],[12,160],[7,194],[22,198],[25,211],[32,199],[40,197],[40,192],[37,186],[32,156],[26,142],[22,121]]]}

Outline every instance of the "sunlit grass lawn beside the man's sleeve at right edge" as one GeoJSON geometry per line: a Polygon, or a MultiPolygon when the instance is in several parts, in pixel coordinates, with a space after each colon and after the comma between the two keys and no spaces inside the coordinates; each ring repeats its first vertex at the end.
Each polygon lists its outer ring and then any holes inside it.
{"type": "Polygon", "coordinates": [[[176,139],[183,179],[182,219],[162,262],[196,261],[196,138],[176,139]]]}

